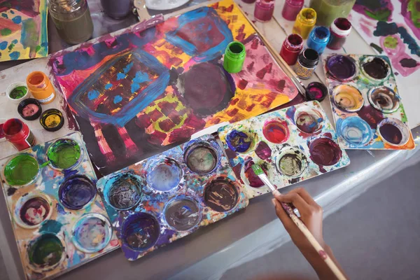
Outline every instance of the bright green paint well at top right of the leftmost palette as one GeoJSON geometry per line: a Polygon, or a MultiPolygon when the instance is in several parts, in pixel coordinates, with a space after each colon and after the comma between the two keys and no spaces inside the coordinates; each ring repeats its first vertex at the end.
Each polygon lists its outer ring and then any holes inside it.
{"type": "Polygon", "coordinates": [[[80,146],[72,139],[59,139],[47,150],[47,158],[55,169],[71,169],[80,163],[80,146]]]}

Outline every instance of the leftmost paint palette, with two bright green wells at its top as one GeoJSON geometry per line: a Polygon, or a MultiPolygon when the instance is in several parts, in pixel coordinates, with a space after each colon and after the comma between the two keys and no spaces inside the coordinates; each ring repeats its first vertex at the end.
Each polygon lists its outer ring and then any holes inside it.
{"type": "Polygon", "coordinates": [[[0,160],[27,279],[58,276],[118,248],[79,132],[0,160]]]}

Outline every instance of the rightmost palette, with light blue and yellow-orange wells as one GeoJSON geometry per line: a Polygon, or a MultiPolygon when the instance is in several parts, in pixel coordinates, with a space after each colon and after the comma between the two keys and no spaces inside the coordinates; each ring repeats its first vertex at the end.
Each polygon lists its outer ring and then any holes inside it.
{"type": "Polygon", "coordinates": [[[342,148],[414,148],[388,57],[327,55],[323,69],[342,148]]]}

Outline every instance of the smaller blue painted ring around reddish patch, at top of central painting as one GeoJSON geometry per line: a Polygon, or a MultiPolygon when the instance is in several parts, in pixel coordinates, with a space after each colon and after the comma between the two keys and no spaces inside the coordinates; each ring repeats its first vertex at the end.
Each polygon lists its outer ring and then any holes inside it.
{"type": "MultiPolygon", "coordinates": [[[[221,55],[223,55],[223,53],[225,53],[225,49],[228,46],[228,44],[233,41],[232,31],[230,31],[228,25],[226,25],[226,22],[224,22],[219,17],[214,8],[202,7],[197,8],[196,10],[191,10],[188,13],[180,15],[178,18],[178,22],[179,27],[175,31],[168,32],[166,35],[166,39],[167,41],[169,41],[169,43],[172,43],[172,45],[176,45],[177,47],[181,48],[184,52],[186,52],[186,54],[194,57],[193,59],[195,59],[196,61],[207,62],[211,59],[215,59],[216,57],[220,57],[221,55]],[[184,25],[206,17],[208,17],[208,19],[213,20],[214,25],[218,28],[218,31],[220,31],[225,38],[218,45],[214,46],[213,48],[209,48],[209,50],[206,50],[205,52],[200,53],[195,45],[179,37],[177,34],[179,33],[180,29],[183,28],[184,25]]],[[[197,28],[200,27],[202,27],[202,25],[198,24],[197,28]]],[[[209,27],[207,30],[211,30],[211,27],[209,27]]],[[[205,31],[202,35],[203,36],[200,37],[200,40],[204,41],[205,43],[210,43],[211,38],[207,36],[208,32],[205,31]]]]}

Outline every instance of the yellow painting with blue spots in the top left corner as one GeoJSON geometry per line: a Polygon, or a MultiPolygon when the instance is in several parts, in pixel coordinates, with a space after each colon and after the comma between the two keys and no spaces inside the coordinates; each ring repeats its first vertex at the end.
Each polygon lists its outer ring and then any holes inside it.
{"type": "Polygon", "coordinates": [[[0,62],[47,55],[47,0],[0,0],[0,62]]]}

